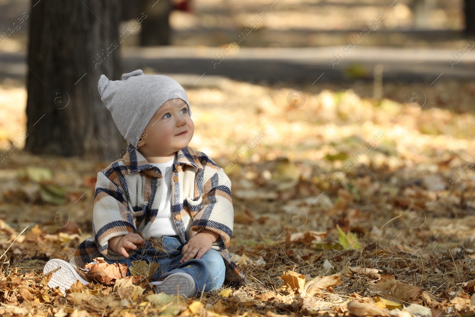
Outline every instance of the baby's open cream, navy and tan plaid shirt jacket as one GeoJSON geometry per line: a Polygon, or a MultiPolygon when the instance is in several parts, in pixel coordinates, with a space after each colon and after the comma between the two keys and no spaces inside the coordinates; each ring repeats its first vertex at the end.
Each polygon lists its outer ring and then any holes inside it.
{"type": "MultiPolygon", "coordinates": [[[[78,246],[71,264],[81,267],[95,257],[124,259],[108,246],[108,241],[117,236],[140,231],[145,239],[150,238],[150,227],[157,215],[164,185],[160,169],[129,145],[122,159],[97,173],[94,237],[78,246]]],[[[239,285],[248,284],[229,256],[234,209],[231,181],[224,170],[208,155],[195,152],[190,146],[182,148],[172,166],[171,197],[173,219],[182,243],[188,243],[203,229],[218,233],[220,237],[212,248],[224,259],[225,279],[239,285]],[[181,219],[177,220],[177,215],[181,219]]]]}

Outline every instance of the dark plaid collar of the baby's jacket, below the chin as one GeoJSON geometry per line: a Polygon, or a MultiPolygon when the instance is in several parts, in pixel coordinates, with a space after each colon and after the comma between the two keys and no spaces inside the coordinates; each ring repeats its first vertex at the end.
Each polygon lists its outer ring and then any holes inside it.
{"type": "MultiPolygon", "coordinates": [[[[127,146],[127,151],[123,155],[123,161],[127,166],[127,171],[129,172],[129,174],[152,168],[152,165],[147,161],[147,159],[142,155],[142,153],[135,149],[131,144],[127,146]]],[[[201,163],[199,162],[198,155],[196,154],[196,152],[193,150],[192,147],[188,145],[178,151],[178,162],[180,163],[180,165],[187,164],[199,169],[204,168],[203,165],[201,165],[201,163]]]]}

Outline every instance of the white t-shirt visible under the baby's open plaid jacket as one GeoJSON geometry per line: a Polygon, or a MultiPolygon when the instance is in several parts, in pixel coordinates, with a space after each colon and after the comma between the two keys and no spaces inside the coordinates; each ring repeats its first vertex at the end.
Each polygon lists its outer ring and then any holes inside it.
{"type": "Polygon", "coordinates": [[[173,221],[173,214],[171,212],[171,171],[173,166],[172,158],[166,163],[150,163],[160,169],[164,182],[163,191],[161,193],[160,207],[158,209],[157,217],[152,222],[150,227],[150,234],[152,237],[163,236],[177,236],[179,235],[175,221],[173,221]]]}

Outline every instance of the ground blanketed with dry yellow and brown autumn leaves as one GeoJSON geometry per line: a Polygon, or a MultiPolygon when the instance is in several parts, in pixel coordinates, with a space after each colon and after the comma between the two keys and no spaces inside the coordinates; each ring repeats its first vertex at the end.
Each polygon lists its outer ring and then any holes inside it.
{"type": "MultiPolygon", "coordinates": [[[[110,162],[4,152],[0,315],[475,314],[475,84],[385,84],[382,100],[364,82],[317,85],[185,86],[190,146],[232,181],[230,251],[251,281],[198,298],[154,294],[140,277],[66,296],[45,286],[45,262],[91,236],[95,175],[110,162]],[[404,102],[412,89],[424,106],[404,102]]],[[[25,93],[1,95],[6,147],[25,129],[25,93]]]]}

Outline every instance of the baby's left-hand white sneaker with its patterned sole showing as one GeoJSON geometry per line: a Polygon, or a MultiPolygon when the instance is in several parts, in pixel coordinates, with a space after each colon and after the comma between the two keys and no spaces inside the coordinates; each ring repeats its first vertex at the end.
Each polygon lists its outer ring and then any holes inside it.
{"type": "Polygon", "coordinates": [[[63,294],[65,294],[66,296],[66,289],[71,288],[73,283],[77,280],[80,280],[83,285],[89,283],[85,279],[81,278],[79,274],[77,274],[76,269],[74,269],[71,264],[62,259],[50,259],[49,261],[47,261],[45,264],[45,268],[43,269],[43,274],[48,274],[52,270],[57,269],[59,267],[61,267],[61,269],[58,269],[56,272],[54,272],[53,276],[48,282],[48,286],[50,288],[55,288],[59,286],[61,292],[63,292],[63,294]]]}

